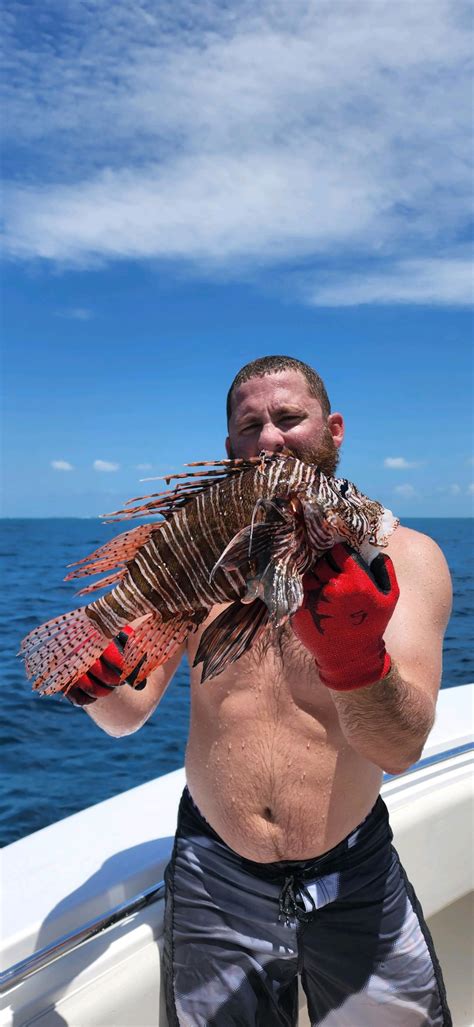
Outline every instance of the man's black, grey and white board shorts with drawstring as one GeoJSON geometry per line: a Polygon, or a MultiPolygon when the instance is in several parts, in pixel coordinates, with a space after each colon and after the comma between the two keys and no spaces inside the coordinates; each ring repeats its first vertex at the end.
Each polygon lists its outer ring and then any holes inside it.
{"type": "Polygon", "coordinates": [[[433,942],[379,797],[313,860],[254,863],[188,791],[165,871],[170,1027],[452,1027],[433,942]]]}

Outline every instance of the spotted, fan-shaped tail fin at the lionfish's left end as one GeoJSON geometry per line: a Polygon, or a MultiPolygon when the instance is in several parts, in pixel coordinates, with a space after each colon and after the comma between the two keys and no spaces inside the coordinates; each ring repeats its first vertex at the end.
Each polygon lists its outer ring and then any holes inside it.
{"type": "Polygon", "coordinates": [[[33,688],[51,695],[74,685],[109,641],[82,608],[35,627],[22,642],[19,655],[28,677],[35,679],[33,688]]]}

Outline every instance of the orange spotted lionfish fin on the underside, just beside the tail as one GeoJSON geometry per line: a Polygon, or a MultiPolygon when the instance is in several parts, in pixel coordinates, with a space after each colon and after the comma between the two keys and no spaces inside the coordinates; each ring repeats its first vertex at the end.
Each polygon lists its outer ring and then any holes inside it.
{"type": "Polygon", "coordinates": [[[170,659],[207,613],[207,610],[193,610],[166,621],[157,613],[144,620],[125,646],[121,682],[133,675],[140,664],[132,682],[134,688],[140,685],[155,668],[170,659]]]}

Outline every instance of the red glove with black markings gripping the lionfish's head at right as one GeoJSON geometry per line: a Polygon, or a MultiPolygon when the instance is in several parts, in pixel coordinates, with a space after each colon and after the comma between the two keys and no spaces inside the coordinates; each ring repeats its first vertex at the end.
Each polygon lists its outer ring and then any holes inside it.
{"type": "Polygon", "coordinates": [[[383,635],[399,596],[390,558],[379,554],[368,567],[348,545],[334,545],[303,584],[305,599],[291,626],[323,684],[350,691],[385,678],[391,660],[383,635]]]}

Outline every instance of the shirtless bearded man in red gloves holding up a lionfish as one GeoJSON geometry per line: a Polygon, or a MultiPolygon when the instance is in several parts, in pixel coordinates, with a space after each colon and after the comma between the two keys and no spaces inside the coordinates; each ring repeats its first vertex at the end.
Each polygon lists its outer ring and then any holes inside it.
{"type": "MultiPolygon", "coordinates": [[[[228,415],[229,455],[287,448],[334,472],[343,417],[307,365],[247,365],[228,415]]],[[[191,671],[189,791],[166,871],[170,1024],[294,1024],[298,974],[314,1025],[451,1023],[379,797],[382,771],[413,763],[433,724],[449,575],[409,529],[386,554],[369,568],[337,545],[278,642],[264,637],[205,685],[191,671]]],[[[191,668],[223,608],[189,639],[191,668]]],[[[145,722],[185,651],[144,690],[114,690],[124,640],[73,692],[114,735],[145,722]]]]}

